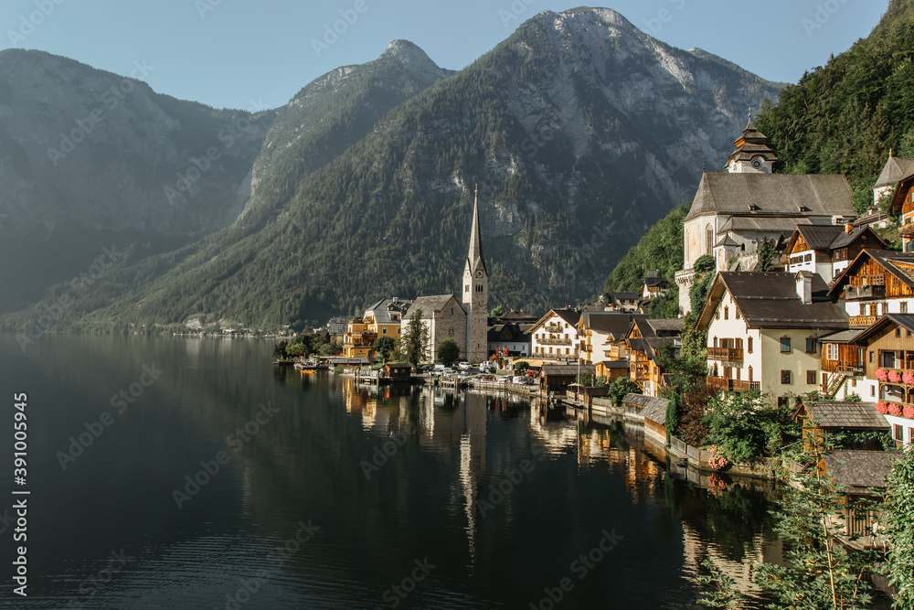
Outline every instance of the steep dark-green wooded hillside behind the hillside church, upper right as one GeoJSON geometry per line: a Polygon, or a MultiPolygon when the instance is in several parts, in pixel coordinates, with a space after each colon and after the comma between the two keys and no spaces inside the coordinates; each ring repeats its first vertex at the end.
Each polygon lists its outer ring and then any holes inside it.
{"type": "Polygon", "coordinates": [[[756,125],[786,173],[846,174],[854,205],[872,204],[889,152],[914,156],[914,2],[892,0],[872,33],[808,71],[756,125]]]}

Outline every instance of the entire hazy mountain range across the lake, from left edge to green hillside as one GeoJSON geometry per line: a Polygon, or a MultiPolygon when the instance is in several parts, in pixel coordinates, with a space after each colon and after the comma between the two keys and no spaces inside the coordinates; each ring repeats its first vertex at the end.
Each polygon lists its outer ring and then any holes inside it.
{"type": "Polygon", "coordinates": [[[599,291],[644,230],[692,196],[702,167],[723,165],[749,106],[780,89],[591,8],[541,13],[456,73],[395,41],[254,115],[140,81],[103,97],[123,81],[0,53],[0,237],[26,234],[72,263],[50,274],[47,257],[5,264],[0,281],[34,280],[5,310],[112,242],[126,256],[60,326],[267,329],[452,292],[476,185],[494,303],[564,305],[599,291]],[[74,129],[84,142],[48,153],[74,129]]]}

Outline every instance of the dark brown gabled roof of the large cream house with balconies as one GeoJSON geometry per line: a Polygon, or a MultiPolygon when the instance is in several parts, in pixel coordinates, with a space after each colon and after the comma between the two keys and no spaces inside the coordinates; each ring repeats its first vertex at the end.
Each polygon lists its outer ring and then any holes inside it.
{"type": "Polygon", "coordinates": [[[728,292],[752,328],[847,328],[847,312],[828,299],[822,277],[813,273],[809,279],[812,303],[804,305],[794,273],[719,272],[696,324],[702,330],[711,326],[717,305],[728,292]]]}

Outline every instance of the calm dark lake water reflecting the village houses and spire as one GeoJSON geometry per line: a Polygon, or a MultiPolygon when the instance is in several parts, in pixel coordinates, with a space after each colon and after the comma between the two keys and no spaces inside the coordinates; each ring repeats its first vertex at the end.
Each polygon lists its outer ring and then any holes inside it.
{"type": "Polygon", "coordinates": [[[271,349],[0,337],[0,517],[31,491],[28,597],[0,521],[0,607],[692,609],[705,558],[751,591],[780,555],[762,491],[675,480],[622,424],[371,393],[277,369],[271,349]]]}

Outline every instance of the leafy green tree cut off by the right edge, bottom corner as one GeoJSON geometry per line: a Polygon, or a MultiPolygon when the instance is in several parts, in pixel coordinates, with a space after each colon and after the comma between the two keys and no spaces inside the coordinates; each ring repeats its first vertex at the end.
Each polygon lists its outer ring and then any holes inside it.
{"type": "Polygon", "coordinates": [[[892,465],[883,507],[888,537],[888,579],[898,587],[893,608],[914,608],[914,451],[892,465]]]}

